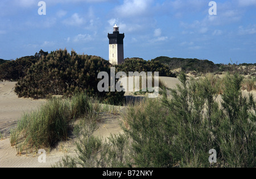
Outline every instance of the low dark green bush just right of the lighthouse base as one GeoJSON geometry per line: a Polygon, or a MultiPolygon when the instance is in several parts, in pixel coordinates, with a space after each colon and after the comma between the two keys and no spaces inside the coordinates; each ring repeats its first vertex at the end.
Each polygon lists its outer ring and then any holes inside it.
{"type": "Polygon", "coordinates": [[[170,72],[168,66],[159,63],[158,61],[146,61],[139,58],[125,59],[121,65],[117,65],[118,72],[159,72],[159,76],[176,77],[170,72]]]}

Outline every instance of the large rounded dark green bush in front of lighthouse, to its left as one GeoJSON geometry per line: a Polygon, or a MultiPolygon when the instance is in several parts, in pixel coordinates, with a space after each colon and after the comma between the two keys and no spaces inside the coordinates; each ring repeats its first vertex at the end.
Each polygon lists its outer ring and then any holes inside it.
{"type": "Polygon", "coordinates": [[[99,72],[108,72],[110,64],[97,56],[71,54],[59,50],[40,57],[32,64],[26,76],[16,84],[19,97],[46,98],[49,95],[66,95],[85,91],[90,96],[106,98],[111,102],[122,100],[124,93],[100,93],[97,89],[99,72]],[[113,100],[113,99],[119,99],[113,100]]]}

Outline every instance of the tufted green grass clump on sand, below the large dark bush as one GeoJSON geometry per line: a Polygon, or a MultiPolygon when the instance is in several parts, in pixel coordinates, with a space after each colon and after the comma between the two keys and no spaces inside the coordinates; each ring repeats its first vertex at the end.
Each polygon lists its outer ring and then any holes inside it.
{"type": "Polygon", "coordinates": [[[51,98],[40,109],[24,114],[17,128],[11,131],[11,145],[18,153],[54,147],[58,141],[67,140],[70,123],[92,109],[85,93],[73,98],[51,98]]]}

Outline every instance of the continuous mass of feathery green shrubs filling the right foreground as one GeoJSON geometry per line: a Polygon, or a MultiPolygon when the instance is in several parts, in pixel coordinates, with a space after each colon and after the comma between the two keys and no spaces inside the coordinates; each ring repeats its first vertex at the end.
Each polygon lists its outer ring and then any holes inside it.
{"type": "Polygon", "coordinates": [[[65,167],[255,167],[256,108],[252,95],[243,97],[242,77],[228,75],[221,103],[214,78],[187,81],[171,90],[172,98],[150,99],[129,107],[124,133],[109,141],[85,132],[77,157],[65,167]],[[216,149],[217,163],[209,163],[216,149]]]}

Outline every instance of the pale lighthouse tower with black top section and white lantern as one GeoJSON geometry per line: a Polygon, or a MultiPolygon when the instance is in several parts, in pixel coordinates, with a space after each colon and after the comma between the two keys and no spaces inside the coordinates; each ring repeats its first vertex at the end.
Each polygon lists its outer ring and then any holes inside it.
{"type": "Polygon", "coordinates": [[[119,27],[114,26],[113,34],[108,34],[109,38],[109,63],[113,65],[122,64],[124,60],[123,55],[123,39],[125,34],[119,34],[119,27]]]}

